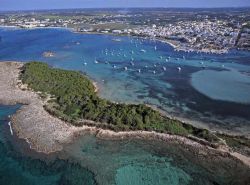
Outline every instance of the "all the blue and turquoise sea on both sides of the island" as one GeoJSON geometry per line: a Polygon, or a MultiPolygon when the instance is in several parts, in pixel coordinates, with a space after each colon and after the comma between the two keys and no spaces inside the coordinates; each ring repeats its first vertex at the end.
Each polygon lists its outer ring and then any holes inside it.
{"type": "MultiPolygon", "coordinates": [[[[82,71],[98,83],[104,98],[152,104],[214,130],[250,135],[249,52],[177,52],[158,41],[67,29],[1,28],[0,36],[0,61],[39,60],[82,71]],[[55,56],[43,57],[46,51],[55,56]]],[[[110,141],[86,134],[64,151],[42,156],[10,135],[8,115],[18,108],[0,106],[0,184],[250,182],[250,169],[226,157],[211,158],[156,141],[110,141]]]]}

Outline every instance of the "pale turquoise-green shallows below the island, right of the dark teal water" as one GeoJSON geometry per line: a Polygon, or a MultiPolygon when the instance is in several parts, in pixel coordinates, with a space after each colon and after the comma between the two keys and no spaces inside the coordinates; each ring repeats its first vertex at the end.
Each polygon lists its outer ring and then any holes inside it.
{"type": "Polygon", "coordinates": [[[249,168],[227,157],[138,139],[111,141],[84,135],[65,152],[94,172],[100,184],[212,185],[250,182],[249,168]]]}

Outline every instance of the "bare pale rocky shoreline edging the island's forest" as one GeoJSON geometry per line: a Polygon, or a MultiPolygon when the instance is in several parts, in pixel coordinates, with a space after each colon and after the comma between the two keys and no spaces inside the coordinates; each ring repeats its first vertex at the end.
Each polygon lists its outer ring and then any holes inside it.
{"type": "Polygon", "coordinates": [[[114,132],[96,127],[75,127],[50,115],[43,106],[47,100],[39,93],[28,90],[19,80],[23,63],[0,62],[0,104],[23,104],[11,117],[13,130],[19,138],[25,139],[30,148],[41,153],[61,151],[64,145],[74,141],[79,135],[91,133],[101,139],[157,139],[164,142],[189,146],[199,153],[230,156],[250,167],[250,158],[239,153],[231,153],[229,148],[214,149],[186,137],[148,131],[114,132]]]}

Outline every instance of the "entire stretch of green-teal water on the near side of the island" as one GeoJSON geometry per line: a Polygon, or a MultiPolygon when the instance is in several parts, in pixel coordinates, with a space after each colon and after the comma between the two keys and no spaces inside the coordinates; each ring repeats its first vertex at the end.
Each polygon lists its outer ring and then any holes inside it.
{"type": "Polygon", "coordinates": [[[226,156],[153,140],[104,140],[86,133],[42,155],[10,134],[0,106],[0,185],[247,185],[250,169],[226,156]]]}

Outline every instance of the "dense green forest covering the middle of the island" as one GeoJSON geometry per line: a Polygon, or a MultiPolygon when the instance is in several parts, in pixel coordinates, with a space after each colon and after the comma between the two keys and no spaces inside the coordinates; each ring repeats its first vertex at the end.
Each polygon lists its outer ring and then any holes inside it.
{"type": "Polygon", "coordinates": [[[115,131],[148,130],[217,141],[208,130],[164,117],[146,105],[117,104],[98,97],[91,80],[80,72],[31,62],[24,65],[20,77],[41,96],[51,96],[45,106],[48,112],[76,126],[86,123],[82,120],[92,120],[115,131]]]}

